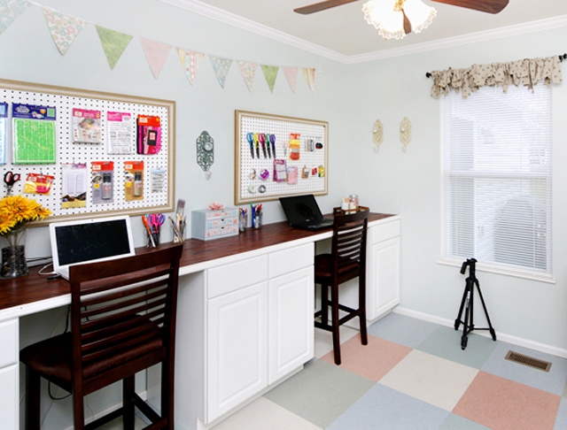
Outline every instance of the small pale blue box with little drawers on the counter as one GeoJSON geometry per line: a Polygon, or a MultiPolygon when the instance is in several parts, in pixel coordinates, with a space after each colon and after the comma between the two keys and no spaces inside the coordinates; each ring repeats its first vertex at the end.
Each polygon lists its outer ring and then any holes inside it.
{"type": "Polygon", "coordinates": [[[211,241],[238,234],[238,208],[191,211],[191,237],[211,241]]]}

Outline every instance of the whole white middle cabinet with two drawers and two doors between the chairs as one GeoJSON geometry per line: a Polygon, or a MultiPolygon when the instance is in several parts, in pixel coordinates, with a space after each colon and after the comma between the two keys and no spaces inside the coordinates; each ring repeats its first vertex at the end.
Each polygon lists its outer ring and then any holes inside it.
{"type": "Polygon", "coordinates": [[[314,356],[313,248],[294,246],[207,271],[206,425],[314,356]]]}

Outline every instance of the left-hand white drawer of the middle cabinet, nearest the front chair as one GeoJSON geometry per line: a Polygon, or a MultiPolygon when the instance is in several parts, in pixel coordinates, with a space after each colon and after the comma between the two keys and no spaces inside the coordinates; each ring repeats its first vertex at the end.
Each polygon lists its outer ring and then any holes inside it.
{"type": "Polygon", "coordinates": [[[268,257],[247,258],[208,271],[207,298],[221,296],[268,279],[268,257]]]}

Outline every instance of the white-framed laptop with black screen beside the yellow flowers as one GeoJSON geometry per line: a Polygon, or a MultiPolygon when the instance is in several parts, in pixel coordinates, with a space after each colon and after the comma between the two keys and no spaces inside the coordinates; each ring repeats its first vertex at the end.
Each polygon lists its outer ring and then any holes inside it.
{"type": "Polygon", "coordinates": [[[66,280],[71,265],[136,254],[128,216],[53,222],[50,240],[53,270],[66,280]]]}

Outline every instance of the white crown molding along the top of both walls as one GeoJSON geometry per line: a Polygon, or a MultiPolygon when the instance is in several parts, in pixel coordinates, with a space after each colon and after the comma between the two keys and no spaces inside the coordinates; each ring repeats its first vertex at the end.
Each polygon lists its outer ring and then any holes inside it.
{"type": "Polygon", "coordinates": [[[251,19],[245,19],[209,4],[201,3],[198,0],[161,1],[163,3],[172,4],[187,11],[198,13],[200,15],[206,16],[207,18],[215,19],[217,21],[243,29],[256,35],[268,37],[269,39],[275,40],[277,42],[286,43],[295,48],[299,48],[300,50],[306,50],[307,52],[311,52],[323,58],[329,58],[330,60],[337,61],[346,65],[365,63],[385,58],[401,57],[431,50],[443,50],[447,48],[454,48],[455,46],[462,46],[468,43],[485,42],[489,40],[500,39],[502,37],[524,35],[542,30],[567,26],[567,15],[562,15],[559,17],[540,19],[537,21],[527,22],[509,27],[501,27],[494,30],[448,37],[447,39],[439,39],[432,42],[415,43],[401,48],[377,50],[374,52],[369,52],[367,54],[346,56],[344,54],[338,53],[337,51],[323,48],[322,46],[316,45],[315,43],[299,39],[299,37],[295,37],[287,33],[283,33],[282,31],[275,30],[274,28],[270,28],[258,22],[252,21],[251,19]]]}

